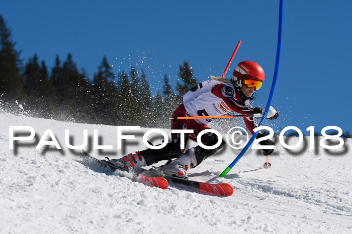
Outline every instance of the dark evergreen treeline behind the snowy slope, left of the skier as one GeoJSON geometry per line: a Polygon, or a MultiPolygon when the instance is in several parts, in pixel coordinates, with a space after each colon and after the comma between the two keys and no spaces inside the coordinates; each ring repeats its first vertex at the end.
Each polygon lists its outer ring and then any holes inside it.
{"type": "Polygon", "coordinates": [[[152,95],[144,69],[114,74],[104,56],[93,79],[68,54],[58,56],[48,70],[35,54],[23,64],[15,50],[11,29],[0,15],[0,110],[25,112],[32,117],[107,125],[169,127],[167,117],[196,83],[187,62],[180,66],[176,91],[167,75],[161,92],[152,95]],[[19,108],[19,103],[22,104],[19,108]]]}

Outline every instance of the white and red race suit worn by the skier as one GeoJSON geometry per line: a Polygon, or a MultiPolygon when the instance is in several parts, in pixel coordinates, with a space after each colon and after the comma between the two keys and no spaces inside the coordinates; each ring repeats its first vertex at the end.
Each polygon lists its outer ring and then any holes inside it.
{"type": "MultiPolygon", "coordinates": [[[[184,95],[184,103],[181,104],[173,115],[182,116],[214,116],[226,115],[231,111],[240,114],[253,114],[253,107],[250,101],[240,102],[241,97],[232,83],[222,83],[215,80],[208,80],[199,83],[184,95]]],[[[207,125],[212,119],[179,119],[175,122],[171,121],[171,129],[193,129],[193,134],[188,134],[188,137],[197,141],[197,135],[204,129],[209,128],[207,125]]],[[[258,126],[253,117],[244,118],[247,129],[253,134],[253,129],[258,126]]],[[[214,138],[214,134],[204,134],[202,143],[214,138]]],[[[187,136],[187,134],[186,134],[187,136]]],[[[187,142],[187,138],[185,141],[187,142]]],[[[171,134],[174,143],[180,142],[180,133],[171,134]]],[[[185,142],[185,143],[186,143],[185,142]]]]}

